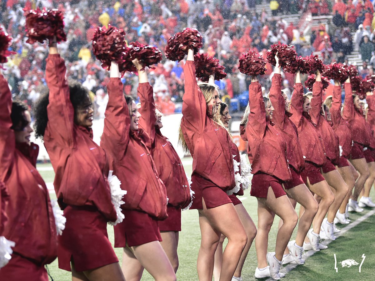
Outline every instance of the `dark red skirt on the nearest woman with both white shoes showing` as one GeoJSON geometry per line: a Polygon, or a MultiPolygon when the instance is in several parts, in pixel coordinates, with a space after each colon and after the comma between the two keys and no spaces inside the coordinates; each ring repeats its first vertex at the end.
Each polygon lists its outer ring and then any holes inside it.
{"type": "Polygon", "coordinates": [[[287,195],[282,188],[280,180],[265,173],[256,173],[253,176],[251,180],[250,195],[258,198],[267,198],[269,187],[272,187],[276,198],[287,195]]]}

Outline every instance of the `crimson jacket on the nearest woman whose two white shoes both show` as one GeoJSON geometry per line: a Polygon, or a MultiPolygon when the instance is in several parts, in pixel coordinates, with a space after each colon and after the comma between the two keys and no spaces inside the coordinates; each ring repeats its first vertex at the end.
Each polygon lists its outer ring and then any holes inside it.
{"type": "Polygon", "coordinates": [[[287,142],[266,120],[262,87],[259,82],[249,85],[250,113],[248,123],[241,127],[241,137],[248,141],[248,157],[252,174],[258,172],[288,181],[291,173],[287,160],[287,142]]]}

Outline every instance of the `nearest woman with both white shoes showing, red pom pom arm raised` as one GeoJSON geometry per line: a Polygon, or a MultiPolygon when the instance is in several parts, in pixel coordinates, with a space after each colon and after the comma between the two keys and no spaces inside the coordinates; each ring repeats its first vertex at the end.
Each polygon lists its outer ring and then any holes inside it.
{"type": "Polygon", "coordinates": [[[291,180],[291,172],[287,143],[272,126],[273,111],[270,99],[262,96],[257,76],[252,76],[249,105],[240,128],[242,138],[248,141],[248,157],[254,174],[250,195],[258,200],[258,232],[255,239],[258,267],[255,277],[271,275],[274,280],[279,280],[284,277],[279,270],[298,216],[282,188],[283,182],[291,180]],[[267,253],[268,235],[275,214],[284,223],[278,231],[275,252],[267,253]]]}

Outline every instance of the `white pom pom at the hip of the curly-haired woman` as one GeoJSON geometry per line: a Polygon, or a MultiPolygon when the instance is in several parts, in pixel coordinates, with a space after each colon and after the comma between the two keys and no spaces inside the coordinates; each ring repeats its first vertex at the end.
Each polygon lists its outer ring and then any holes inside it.
{"type": "Polygon", "coordinates": [[[125,202],[122,199],[124,195],[127,193],[127,191],[121,189],[121,181],[117,178],[117,176],[112,175],[112,173],[113,170],[110,170],[108,174],[108,183],[110,184],[111,188],[111,201],[116,210],[117,220],[115,222],[108,221],[108,224],[115,226],[116,224],[121,223],[125,218],[121,210],[121,205],[125,204],[125,202]]]}

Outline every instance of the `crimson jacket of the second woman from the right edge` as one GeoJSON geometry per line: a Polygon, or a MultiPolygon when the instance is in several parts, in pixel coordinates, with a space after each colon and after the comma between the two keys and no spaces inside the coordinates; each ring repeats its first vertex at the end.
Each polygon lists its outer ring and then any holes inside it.
{"type": "MultiPolygon", "coordinates": [[[[352,93],[350,83],[344,85],[345,93],[352,93]]],[[[349,122],[349,127],[352,133],[352,139],[363,146],[368,146],[368,138],[366,134],[366,120],[362,112],[355,108],[352,99],[345,99],[344,111],[342,117],[349,122]]]]}

